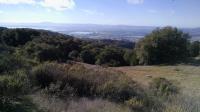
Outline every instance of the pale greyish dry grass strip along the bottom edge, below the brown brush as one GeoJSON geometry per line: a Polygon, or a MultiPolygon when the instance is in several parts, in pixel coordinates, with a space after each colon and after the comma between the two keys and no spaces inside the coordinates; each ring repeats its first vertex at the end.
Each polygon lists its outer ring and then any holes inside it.
{"type": "Polygon", "coordinates": [[[33,102],[44,112],[133,112],[130,108],[102,99],[71,98],[61,100],[37,93],[33,102]]]}

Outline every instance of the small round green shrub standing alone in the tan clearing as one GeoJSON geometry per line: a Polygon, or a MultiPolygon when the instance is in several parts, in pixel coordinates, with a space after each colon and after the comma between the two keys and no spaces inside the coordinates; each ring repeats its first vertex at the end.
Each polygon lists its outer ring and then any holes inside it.
{"type": "Polygon", "coordinates": [[[150,88],[158,96],[170,96],[178,93],[178,87],[172,81],[165,78],[153,79],[150,88]]]}

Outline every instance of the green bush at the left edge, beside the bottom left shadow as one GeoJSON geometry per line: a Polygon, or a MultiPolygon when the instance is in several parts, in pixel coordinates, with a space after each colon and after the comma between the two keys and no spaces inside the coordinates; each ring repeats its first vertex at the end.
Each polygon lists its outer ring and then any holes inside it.
{"type": "Polygon", "coordinates": [[[0,76],[0,112],[11,112],[17,98],[29,92],[29,80],[23,70],[0,76]]]}

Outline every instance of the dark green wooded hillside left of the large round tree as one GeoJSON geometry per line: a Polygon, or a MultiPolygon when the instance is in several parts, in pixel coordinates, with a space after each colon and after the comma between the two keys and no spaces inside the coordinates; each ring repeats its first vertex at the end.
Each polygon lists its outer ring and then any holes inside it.
{"type": "Polygon", "coordinates": [[[81,40],[55,32],[1,28],[2,48],[36,62],[68,60],[105,66],[129,65],[124,59],[134,43],[114,40],[81,40]]]}

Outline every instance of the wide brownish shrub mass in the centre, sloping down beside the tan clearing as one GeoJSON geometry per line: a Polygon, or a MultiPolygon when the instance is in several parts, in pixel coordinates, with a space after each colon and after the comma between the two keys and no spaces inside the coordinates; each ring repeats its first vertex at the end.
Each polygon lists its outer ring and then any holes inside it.
{"type": "Polygon", "coordinates": [[[85,89],[84,92],[80,91],[81,93],[89,93],[90,96],[123,102],[131,97],[138,96],[141,92],[136,82],[120,72],[111,72],[109,69],[101,67],[78,66],[76,65],[73,70],[71,69],[70,73],[76,79],[79,79],[79,83],[82,82],[83,86],[81,87],[85,89]]]}

